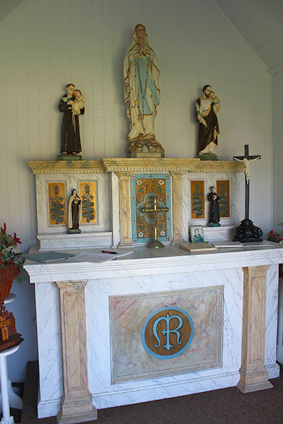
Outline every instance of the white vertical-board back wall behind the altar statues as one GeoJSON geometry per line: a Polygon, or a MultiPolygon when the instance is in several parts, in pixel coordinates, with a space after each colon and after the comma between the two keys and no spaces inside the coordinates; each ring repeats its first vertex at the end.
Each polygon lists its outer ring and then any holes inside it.
{"type": "MultiPolygon", "coordinates": [[[[271,77],[212,1],[28,0],[0,23],[0,223],[17,232],[25,250],[36,242],[35,178],[25,160],[60,153],[57,105],[66,83],[86,96],[83,158],[125,157],[122,63],[139,22],[159,59],[155,134],[166,157],[195,157],[194,105],[209,83],[221,99],[216,153],[231,160],[248,143],[250,154],[262,155],[252,165],[250,218],[264,232],[272,228],[271,77]]],[[[35,312],[27,281],[13,291],[18,330],[31,346],[13,359],[19,379],[36,357],[35,312]]]]}

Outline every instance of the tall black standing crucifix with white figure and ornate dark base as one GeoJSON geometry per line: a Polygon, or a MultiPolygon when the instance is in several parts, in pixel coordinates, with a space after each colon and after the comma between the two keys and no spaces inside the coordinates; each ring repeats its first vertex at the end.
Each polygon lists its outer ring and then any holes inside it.
{"type": "Polygon", "coordinates": [[[244,156],[233,156],[233,160],[238,160],[245,165],[245,219],[241,221],[241,224],[235,228],[233,234],[233,241],[238,242],[262,242],[262,230],[259,227],[253,225],[253,221],[249,218],[250,208],[250,163],[254,160],[261,159],[260,155],[249,155],[248,144],[245,144],[245,155],[244,156]]]}

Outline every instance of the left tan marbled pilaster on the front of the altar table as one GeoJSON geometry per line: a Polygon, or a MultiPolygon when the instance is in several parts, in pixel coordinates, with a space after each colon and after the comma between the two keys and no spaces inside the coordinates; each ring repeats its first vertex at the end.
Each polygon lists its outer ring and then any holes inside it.
{"type": "Polygon", "coordinates": [[[97,411],[88,390],[86,353],[86,307],[84,288],[87,281],[59,281],[62,365],[64,394],[59,424],[86,423],[97,419],[97,411]]]}

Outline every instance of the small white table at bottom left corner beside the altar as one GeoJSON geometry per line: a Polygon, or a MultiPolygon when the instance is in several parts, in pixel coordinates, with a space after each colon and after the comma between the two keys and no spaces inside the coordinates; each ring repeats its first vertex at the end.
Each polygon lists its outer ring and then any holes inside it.
{"type": "MultiPolygon", "coordinates": [[[[13,417],[10,415],[10,405],[9,405],[9,396],[8,396],[7,356],[13,355],[13,353],[18,351],[19,348],[20,348],[20,345],[13,346],[13,348],[9,348],[9,349],[6,349],[5,351],[0,352],[1,398],[2,398],[2,409],[3,409],[3,418],[1,419],[0,424],[15,424],[13,417]]],[[[14,395],[17,396],[15,393],[14,395]]]]}

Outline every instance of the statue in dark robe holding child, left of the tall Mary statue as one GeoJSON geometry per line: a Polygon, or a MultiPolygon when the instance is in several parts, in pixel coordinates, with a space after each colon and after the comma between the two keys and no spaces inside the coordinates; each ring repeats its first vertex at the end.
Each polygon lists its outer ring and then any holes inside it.
{"type": "Polygon", "coordinates": [[[59,111],[64,112],[62,122],[62,155],[76,155],[81,152],[79,115],[84,114],[85,98],[74,84],[67,84],[67,93],[59,102],[59,111]]]}

